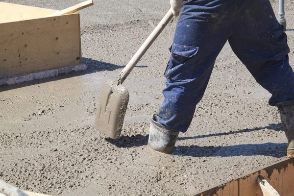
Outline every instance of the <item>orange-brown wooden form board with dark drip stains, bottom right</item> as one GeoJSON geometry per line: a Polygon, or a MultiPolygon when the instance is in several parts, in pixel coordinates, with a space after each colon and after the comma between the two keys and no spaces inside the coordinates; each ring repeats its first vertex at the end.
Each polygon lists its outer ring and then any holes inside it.
{"type": "Polygon", "coordinates": [[[294,159],[285,158],[259,171],[225,184],[200,191],[194,196],[263,196],[258,176],[262,175],[280,196],[294,196],[294,159]]]}

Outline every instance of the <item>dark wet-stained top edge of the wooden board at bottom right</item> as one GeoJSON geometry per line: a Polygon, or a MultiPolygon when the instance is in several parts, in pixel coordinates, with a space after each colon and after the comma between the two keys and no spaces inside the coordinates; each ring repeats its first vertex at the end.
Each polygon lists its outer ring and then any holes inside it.
{"type": "MultiPolygon", "coordinates": [[[[225,183],[221,183],[221,184],[219,184],[219,185],[217,185],[217,186],[215,186],[213,188],[209,187],[207,189],[203,189],[201,191],[198,191],[197,193],[192,194],[191,196],[214,196],[214,195],[216,195],[216,193],[220,189],[224,189],[224,187],[227,184],[229,184],[230,182],[235,181],[235,180],[238,181],[239,179],[242,179],[242,178],[245,179],[245,178],[249,177],[251,174],[261,173],[261,170],[265,170],[268,173],[268,175],[269,175],[267,177],[270,178],[270,175],[271,175],[271,173],[273,172],[274,169],[277,169],[280,172],[282,169],[286,169],[289,164],[294,165],[294,158],[292,158],[292,159],[291,158],[283,158],[281,160],[278,160],[276,162],[273,162],[270,165],[264,166],[264,168],[261,168],[258,171],[250,172],[247,175],[240,175],[237,178],[234,178],[232,180],[229,180],[229,181],[227,181],[225,183]]],[[[257,179],[256,179],[256,181],[257,181],[257,179]]]]}

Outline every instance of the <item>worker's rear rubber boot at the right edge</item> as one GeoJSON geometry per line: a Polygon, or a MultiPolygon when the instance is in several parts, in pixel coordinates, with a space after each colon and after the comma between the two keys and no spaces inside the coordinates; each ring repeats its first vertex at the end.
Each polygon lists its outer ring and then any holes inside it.
{"type": "Polygon", "coordinates": [[[277,107],[288,139],[287,157],[294,158],[294,100],[279,102],[277,107]]]}

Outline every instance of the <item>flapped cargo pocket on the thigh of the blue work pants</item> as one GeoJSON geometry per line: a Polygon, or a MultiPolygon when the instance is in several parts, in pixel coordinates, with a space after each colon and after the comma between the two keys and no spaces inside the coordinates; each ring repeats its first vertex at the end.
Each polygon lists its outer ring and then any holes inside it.
{"type": "Polygon", "coordinates": [[[164,76],[175,81],[189,82],[194,73],[198,47],[173,44],[164,76]]]}

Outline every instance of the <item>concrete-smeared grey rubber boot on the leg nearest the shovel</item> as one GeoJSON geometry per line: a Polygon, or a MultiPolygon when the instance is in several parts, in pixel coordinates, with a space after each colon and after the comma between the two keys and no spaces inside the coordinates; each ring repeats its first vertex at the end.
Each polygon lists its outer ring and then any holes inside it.
{"type": "Polygon", "coordinates": [[[164,125],[156,122],[156,116],[153,115],[150,123],[150,134],[148,146],[158,152],[171,154],[179,131],[167,129],[164,125]]]}

